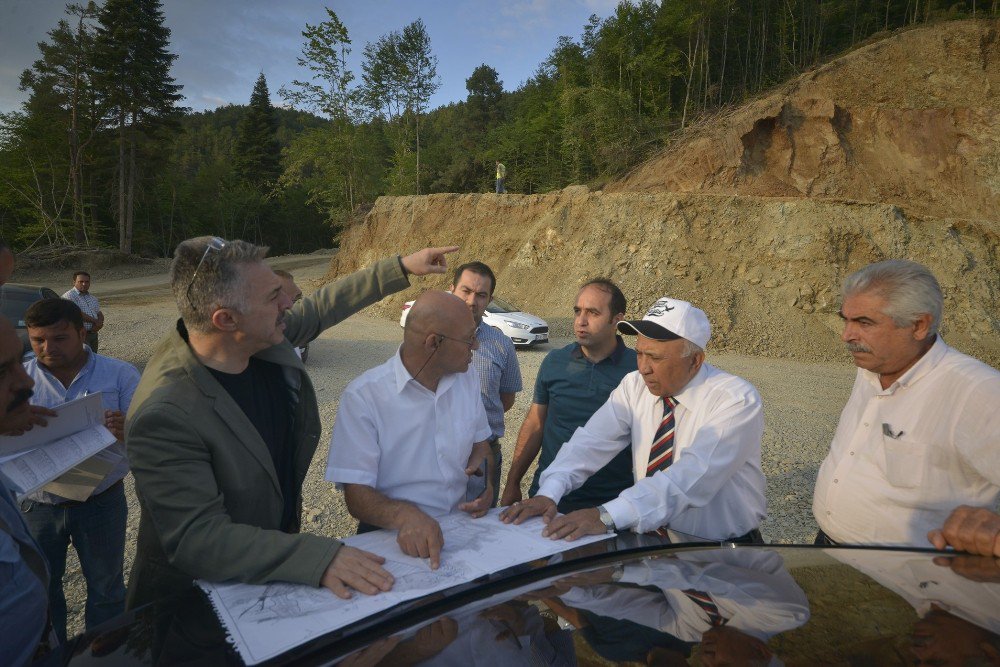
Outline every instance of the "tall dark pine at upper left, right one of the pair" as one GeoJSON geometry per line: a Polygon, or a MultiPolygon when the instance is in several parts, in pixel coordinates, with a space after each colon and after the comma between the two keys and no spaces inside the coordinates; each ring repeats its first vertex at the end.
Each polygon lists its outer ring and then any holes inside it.
{"type": "Polygon", "coordinates": [[[183,96],[170,76],[177,56],[167,50],[159,0],[107,0],[98,20],[95,79],[118,143],[118,247],[131,252],[141,167],[163,148],[161,130],[176,130],[183,96]]]}

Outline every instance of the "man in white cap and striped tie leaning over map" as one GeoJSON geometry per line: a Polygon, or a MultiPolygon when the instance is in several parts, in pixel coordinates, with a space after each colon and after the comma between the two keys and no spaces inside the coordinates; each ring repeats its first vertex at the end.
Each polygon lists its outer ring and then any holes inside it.
{"type": "Polygon", "coordinates": [[[712,540],[759,542],[766,514],[760,395],[746,380],[705,363],[711,326],[686,301],[658,299],[641,320],[618,323],[636,334],[639,370],[563,445],[538,494],[501,514],[507,523],[541,515],[542,535],[670,528],[712,540]],[[615,454],[631,446],[635,484],[600,507],[556,516],[556,503],[615,454]]]}

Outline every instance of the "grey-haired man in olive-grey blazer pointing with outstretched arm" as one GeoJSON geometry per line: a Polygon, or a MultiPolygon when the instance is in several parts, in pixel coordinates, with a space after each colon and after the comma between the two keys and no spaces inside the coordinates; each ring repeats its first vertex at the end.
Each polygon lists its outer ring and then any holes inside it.
{"type": "Polygon", "coordinates": [[[198,578],[325,586],[344,598],[389,590],[378,556],[298,532],[321,425],[294,346],[407,287],[409,274],[444,273],[456,249],[381,260],[292,308],[267,248],[217,237],[177,247],[170,285],[181,319],[126,422],[142,510],[129,608],[198,578]]]}

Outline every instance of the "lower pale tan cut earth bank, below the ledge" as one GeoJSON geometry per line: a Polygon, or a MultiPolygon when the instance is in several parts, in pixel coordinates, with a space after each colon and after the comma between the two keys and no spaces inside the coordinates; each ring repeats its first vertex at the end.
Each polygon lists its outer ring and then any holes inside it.
{"type": "MultiPolygon", "coordinates": [[[[848,272],[910,257],[941,281],[947,340],[1000,361],[998,239],[985,224],[907,216],[888,204],[584,188],[384,197],[343,240],[331,274],[451,242],[462,246],[453,264],[484,259],[499,294],[542,316],[568,316],[580,283],[605,275],[632,315],[670,294],[705,309],[713,349],[798,359],[843,354],[836,313],[848,272]]],[[[436,285],[424,280],[373,308],[396,316],[428,286],[436,285]]]]}

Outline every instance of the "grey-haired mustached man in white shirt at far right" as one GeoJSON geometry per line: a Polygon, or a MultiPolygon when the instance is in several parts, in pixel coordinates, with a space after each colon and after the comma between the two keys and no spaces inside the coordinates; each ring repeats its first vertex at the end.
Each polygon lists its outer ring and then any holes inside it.
{"type": "Polygon", "coordinates": [[[1000,556],[1000,372],[945,344],[942,304],[916,262],[844,281],[841,339],[858,371],[816,479],[818,544],[1000,556]]]}

